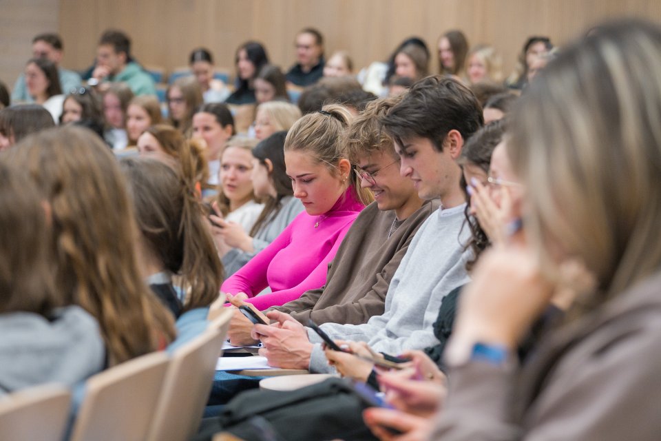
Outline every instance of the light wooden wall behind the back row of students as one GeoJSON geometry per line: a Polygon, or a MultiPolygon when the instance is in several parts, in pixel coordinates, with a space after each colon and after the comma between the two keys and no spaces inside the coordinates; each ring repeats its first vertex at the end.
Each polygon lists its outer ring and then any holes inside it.
{"type": "MultiPolygon", "coordinates": [[[[0,24],[4,24],[0,48],[3,55],[11,54],[9,60],[2,57],[0,74],[7,78],[12,72],[10,81],[29,56],[32,35],[54,25],[65,41],[63,65],[74,69],[92,63],[96,41],[110,27],[132,37],[134,55],[146,65],[168,70],[186,65],[189,52],[204,45],[219,67],[232,68],[235,48],[255,39],[266,45],[273,63],[288,68],[294,62],[295,33],[312,25],[326,37],[327,54],[348,50],[358,68],[386,59],[412,35],[426,39],[435,53],[441,32],[461,28],[470,43],[495,45],[507,74],[529,35],[546,34],[565,43],[607,17],[638,15],[661,22],[658,0],[0,0],[0,4],[0,24]],[[32,27],[23,25],[19,17],[32,19],[32,27]]],[[[436,68],[434,57],[432,70],[436,68]]]]}

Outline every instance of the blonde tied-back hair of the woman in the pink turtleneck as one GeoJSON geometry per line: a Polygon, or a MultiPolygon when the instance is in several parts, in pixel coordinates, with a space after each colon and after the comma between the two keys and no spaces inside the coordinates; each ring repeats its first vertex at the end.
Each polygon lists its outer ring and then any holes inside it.
{"type": "MultiPolygon", "coordinates": [[[[284,141],[284,151],[306,152],[313,161],[324,164],[333,176],[341,159],[348,159],[345,131],[353,116],[344,105],[324,105],[321,111],[308,113],[291,127],[284,141]]],[[[349,184],[364,205],[374,200],[368,189],[361,188],[360,178],[351,167],[349,184]]]]}

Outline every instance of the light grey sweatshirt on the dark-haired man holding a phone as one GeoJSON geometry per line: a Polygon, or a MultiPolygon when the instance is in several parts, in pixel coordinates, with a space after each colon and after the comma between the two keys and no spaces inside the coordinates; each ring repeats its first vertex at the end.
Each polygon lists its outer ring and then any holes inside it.
{"type": "MultiPolygon", "coordinates": [[[[394,355],[437,345],[432,325],[441,301],[469,280],[466,262],[472,252],[465,247],[470,229],[464,225],[464,209],[465,204],[438,209],[423,223],[392,277],[384,314],[362,325],[325,323],[321,328],[333,340],[364,341],[375,351],[394,355]]],[[[312,329],[308,337],[313,343],[322,342],[312,329]]],[[[313,349],[310,369],[330,371],[321,345],[313,349]]]]}

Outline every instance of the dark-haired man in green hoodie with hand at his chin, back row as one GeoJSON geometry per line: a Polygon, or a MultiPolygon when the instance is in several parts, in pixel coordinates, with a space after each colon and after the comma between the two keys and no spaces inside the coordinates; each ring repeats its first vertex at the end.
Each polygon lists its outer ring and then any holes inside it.
{"type": "Polygon", "coordinates": [[[131,58],[131,40],[123,32],[107,30],[96,48],[96,68],[90,85],[104,91],[108,83],[127,83],[136,95],[156,95],[156,84],[143,68],[131,58]]]}

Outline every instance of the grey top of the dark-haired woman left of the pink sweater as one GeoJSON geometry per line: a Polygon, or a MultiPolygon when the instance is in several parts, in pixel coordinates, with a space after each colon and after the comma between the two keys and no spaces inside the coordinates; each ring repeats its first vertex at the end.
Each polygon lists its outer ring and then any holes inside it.
{"type": "Polygon", "coordinates": [[[254,252],[246,253],[240,249],[233,248],[223,256],[222,265],[225,269],[225,278],[241,269],[243,265],[246,265],[262,249],[268,247],[273,242],[273,239],[279,236],[282,230],[304,209],[300,199],[294,196],[284,196],[280,203],[282,204],[280,211],[275,216],[271,216],[271,219],[264,223],[260,231],[253,237],[254,252]]]}

